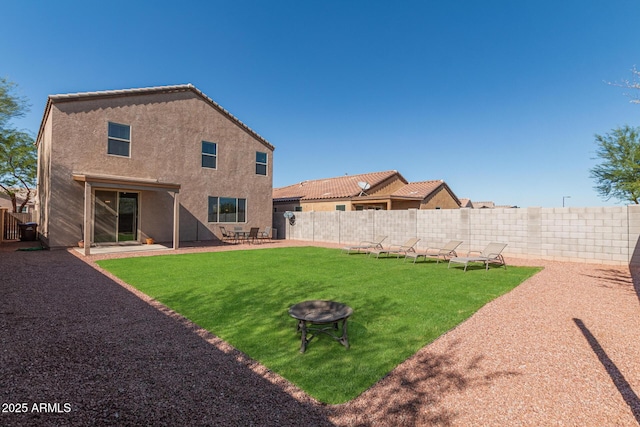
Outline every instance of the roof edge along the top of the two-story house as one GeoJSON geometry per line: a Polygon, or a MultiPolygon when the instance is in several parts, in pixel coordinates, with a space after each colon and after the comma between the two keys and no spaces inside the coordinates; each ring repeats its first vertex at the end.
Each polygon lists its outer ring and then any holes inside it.
{"type": "Polygon", "coordinates": [[[103,90],[96,92],[77,92],[77,93],[66,93],[66,94],[58,94],[58,95],[49,95],[47,99],[47,105],[45,107],[44,115],[42,117],[42,123],[40,124],[40,130],[38,132],[38,138],[36,141],[40,139],[40,135],[42,134],[45,118],[49,113],[49,109],[51,108],[51,104],[55,102],[68,102],[68,101],[76,101],[82,99],[91,99],[91,98],[111,98],[111,97],[121,97],[121,96],[135,96],[135,95],[148,95],[154,93],[175,93],[175,92],[187,92],[191,91],[205,100],[209,105],[211,105],[216,110],[220,111],[222,114],[227,116],[233,122],[235,122],[238,126],[244,129],[247,133],[257,138],[260,142],[262,142],[265,146],[274,150],[275,147],[269,143],[262,136],[258,135],[255,131],[253,131],[249,126],[240,121],[233,114],[225,110],[220,104],[215,102],[213,99],[209,98],[205,95],[201,90],[196,88],[191,83],[181,84],[181,85],[171,85],[171,86],[153,86],[153,87],[144,87],[144,88],[133,88],[133,89],[118,89],[118,90],[103,90]]]}

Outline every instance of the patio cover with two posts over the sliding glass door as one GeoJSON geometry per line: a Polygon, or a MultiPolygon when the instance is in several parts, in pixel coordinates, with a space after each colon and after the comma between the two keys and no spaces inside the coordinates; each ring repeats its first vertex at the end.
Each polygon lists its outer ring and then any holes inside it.
{"type": "Polygon", "coordinates": [[[128,191],[165,191],[173,193],[173,249],[180,244],[180,184],[160,182],[154,179],[125,176],[73,173],[73,180],[84,184],[84,255],[91,254],[91,220],[93,218],[92,189],[109,188],[128,191]]]}

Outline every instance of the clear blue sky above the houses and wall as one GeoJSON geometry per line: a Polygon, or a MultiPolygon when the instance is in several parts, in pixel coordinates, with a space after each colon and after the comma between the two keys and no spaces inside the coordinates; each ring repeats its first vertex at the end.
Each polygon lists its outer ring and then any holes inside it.
{"type": "Polygon", "coordinates": [[[275,187],[395,169],[460,198],[608,206],[595,134],[640,126],[640,2],[5,0],[0,75],[50,94],[192,83],[276,147],[275,187]],[[633,93],[633,92],[631,92],[633,93]]]}

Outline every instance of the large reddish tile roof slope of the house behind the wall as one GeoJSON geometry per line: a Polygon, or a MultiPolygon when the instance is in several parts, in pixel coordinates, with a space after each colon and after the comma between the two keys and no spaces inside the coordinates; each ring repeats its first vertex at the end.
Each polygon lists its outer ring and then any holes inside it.
{"type": "Polygon", "coordinates": [[[386,179],[398,175],[401,180],[406,180],[398,171],[372,172],[359,175],[345,175],[335,178],[316,179],[302,181],[298,184],[273,189],[274,199],[333,199],[348,198],[360,195],[359,182],[367,182],[372,188],[381,184],[386,179]]]}

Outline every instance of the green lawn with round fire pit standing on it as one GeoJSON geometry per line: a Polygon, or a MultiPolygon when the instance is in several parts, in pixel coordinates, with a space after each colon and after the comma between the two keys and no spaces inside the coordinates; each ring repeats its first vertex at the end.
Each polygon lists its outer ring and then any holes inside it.
{"type": "MultiPolygon", "coordinates": [[[[447,269],[278,248],[137,257],[98,264],[326,403],[351,400],[418,349],[509,292],[532,267],[447,269]],[[310,299],[351,306],[350,349],[314,338],[301,354],[288,308],[310,299]]],[[[480,266],[478,266],[480,267],[480,266]]]]}

